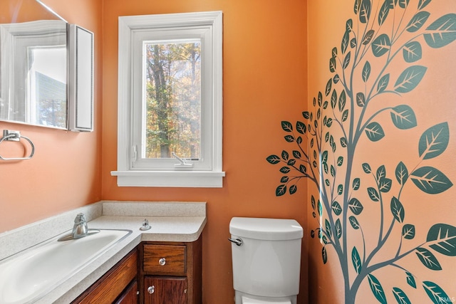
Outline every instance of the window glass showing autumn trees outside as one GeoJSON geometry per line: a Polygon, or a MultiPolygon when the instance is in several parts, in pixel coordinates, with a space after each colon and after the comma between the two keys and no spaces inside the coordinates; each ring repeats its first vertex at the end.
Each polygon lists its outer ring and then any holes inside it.
{"type": "Polygon", "coordinates": [[[143,158],[199,159],[201,41],[145,41],[143,158]]]}

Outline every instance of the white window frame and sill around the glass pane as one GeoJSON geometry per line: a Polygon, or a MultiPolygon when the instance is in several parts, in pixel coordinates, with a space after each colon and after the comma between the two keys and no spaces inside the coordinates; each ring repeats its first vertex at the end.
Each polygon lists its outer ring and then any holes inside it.
{"type": "Polygon", "coordinates": [[[118,48],[118,168],[111,172],[118,186],[222,187],[222,11],[120,16],[118,48]],[[191,166],[175,166],[180,164],[177,159],[163,159],[158,166],[157,159],[137,161],[140,151],[134,123],[141,112],[138,103],[142,98],[137,97],[142,94],[138,91],[142,80],[135,72],[142,67],[138,66],[141,61],[135,60],[135,41],[138,45],[138,39],[147,38],[147,33],[154,40],[202,40],[202,91],[206,92],[201,109],[202,160],[191,166]]]}

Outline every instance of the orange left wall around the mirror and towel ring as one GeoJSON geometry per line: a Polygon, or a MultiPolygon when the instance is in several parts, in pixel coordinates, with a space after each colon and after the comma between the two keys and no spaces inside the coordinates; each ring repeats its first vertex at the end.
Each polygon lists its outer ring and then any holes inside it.
{"type": "MultiPolygon", "coordinates": [[[[0,130],[19,130],[35,144],[32,159],[0,161],[0,232],[101,199],[101,0],[43,1],[70,23],[95,33],[95,132],[76,133],[0,122],[0,130]]],[[[28,145],[28,144],[26,144],[28,145]]],[[[2,142],[0,154],[23,150],[2,142]]]]}

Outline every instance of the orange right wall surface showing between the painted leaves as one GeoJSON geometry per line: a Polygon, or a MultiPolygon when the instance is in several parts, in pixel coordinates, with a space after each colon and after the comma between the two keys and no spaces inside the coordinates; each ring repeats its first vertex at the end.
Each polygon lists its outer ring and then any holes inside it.
{"type": "MultiPolygon", "coordinates": [[[[373,1],[372,17],[375,18],[377,6],[380,8],[384,1],[373,1]]],[[[396,2],[396,1],[395,1],[396,2]]],[[[398,1],[403,3],[403,1],[398,1]]],[[[424,1],[420,1],[424,2],[424,1]]],[[[353,19],[353,24],[358,24],[358,17],[353,13],[354,0],[343,0],[343,1],[309,1],[308,2],[308,45],[309,45],[309,108],[315,111],[311,104],[311,100],[317,96],[318,91],[324,92],[326,82],[329,78],[333,77],[333,73],[330,73],[328,63],[331,58],[331,50],[336,47],[338,48],[338,58],[341,58],[341,41],[344,31],[346,30],[346,21],[353,19]]],[[[413,16],[417,12],[418,0],[410,0],[408,8],[408,16],[413,16]]],[[[430,17],[423,28],[427,28],[433,21],[440,16],[449,13],[456,12],[456,3],[454,0],[439,0],[430,1],[430,4],[425,7],[424,11],[430,12],[430,17]]],[[[395,12],[396,16],[402,14],[401,9],[397,9],[395,12]]],[[[388,18],[393,16],[393,12],[390,12],[388,18]]],[[[408,24],[410,19],[402,21],[402,25],[408,24]]],[[[378,31],[377,19],[375,19],[375,25],[373,28],[378,31]]],[[[397,26],[398,23],[395,23],[397,26]]],[[[385,23],[381,28],[381,33],[392,33],[390,30],[391,23],[385,23]]],[[[356,28],[356,27],[355,27],[356,28]]],[[[356,30],[355,30],[356,31],[356,30]]],[[[362,33],[358,31],[357,33],[362,33]]],[[[405,35],[415,36],[417,33],[410,34],[405,32],[405,35]]],[[[393,215],[390,211],[390,199],[391,196],[398,197],[398,191],[400,189],[398,182],[395,178],[395,167],[400,161],[404,162],[408,166],[409,173],[414,169],[423,166],[431,166],[440,169],[454,184],[456,182],[456,166],[455,166],[455,149],[456,149],[456,123],[455,117],[455,94],[456,89],[454,85],[456,64],[451,58],[456,53],[456,42],[452,42],[450,45],[443,48],[430,48],[427,43],[423,41],[423,38],[419,39],[423,47],[423,58],[415,63],[405,64],[402,59],[402,53],[399,53],[398,57],[395,58],[393,65],[385,73],[390,73],[390,85],[387,90],[393,88],[395,80],[398,75],[410,65],[424,65],[427,67],[425,77],[419,85],[412,90],[410,93],[404,93],[401,95],[395,94],[383,94],[372,100],[371,114],[376,110],[385,107],[395,107],[397,105],[410,105],[413,108],[418,125],[410,130],[398,130],[393,126],[390,118],[390,112],[383,112],[383,114],[375,117],[375,122],[380,122],[384,131],[385,137],[378,142],[371,142],[367,140],[366,135],[361,137],[358,144],[358,149],[354,157],[354,168],[352,178],[361,178],[361,188],[357,191],[349,189],[351,191],[351,197],[358,198],[363,206],[363,213],[356,216],[359,224],[362,227],[361,230],[352,229],[348,225],[346,231],[342,232],[341,239],[347,238],[349,241],[348,245],[348,269],[350,271],[350,282],[353,283],[356,277],[355,268],[353,267],[350,252],[353,246],[357,246],[358,251],[363,260],[363,242],[364,238],[366,241],[366,252],[369,253],[375,248],[378,243],[378,234],[380,226],[380,203],[372,201],[366,189],[368,187],[374,187],[373,177],[366,174],[361,169],[361,164],[368,162],[371,164],[373,174],[375,170],[382,164],[385,165],[387,177],[393,180],[393,187],[390,192],[383,193],[383,209],[385,211],[385,229],[387,229],[393,219],[393,215]],[[374,110],[375,109],[375,110],[374,110]],[[441,122],[447,122],[450,130],[450,141],[446,150],[438,157],[432,159],[420,159],[418,154],[418,140],[420,136],[427,130],[427,128],[437,125],[441,122]],[[416,167],[415,167],[416,166],[416,167]]],[[[350,46],[348,50],[351,50],[351,58],[353,60],[354,51],[350,46]]],[[[378,63],[382,58],[374,58],[371,55],[371,50],[368,51],[368,58],[371,61],[372,72],[376,77],[378,73],[378,63]]],[[[384,58],[384,57],[383,57],[384,58]]],[[[361,68],[365,61],[361,63],[361,68]]],[[[340,66],[341,63],[338,62],[340,66]]],[[[350,69],[350,66],[347,70],[350,69]]],[[[339,75],[342,75],[341,68],[337,70],[339,75]]],[[[346,73],[349,77],[350,73],[346,73]]],[[[361,73],[354,73],[355,81],[353,82],[353,88],[356,88],[356,92],[363,90],[365,83],[361,80],[361,73]]],[[[372,80],[371,80],[372,81],[372,80]]],[[[367,85],[371,85],[368,82],[367,85]]],[[[339,85],[333,85],[333,88],[341,93],[341,87],[339,85]]],[[[323,93],[324,95],[324,93],[323,93]]],[[[331,97],[325,98],[328,100],[331,97]]],[[[348,101],[347,101],[347,107],[348,101]]],[[[328,110],[323,111],[323,115],[333,117],[333,112],[328,107],[328,110]]],[[[356,104],[351,110],[356,111],[356,116],[361,112],[361,108],[356,104]]],[[[336,110],[334,112],[338,113],[336,110]]],[[[333,122],[331,127],[332,132],[338,134],[336,137],[337,155],[343,155],[346,157],[345,150],[340,147],[338,138],[341,133],[337,133],[338,125],[336,121],[333,122]]],[[[325,131],[326,132],[326,131],[325,131]]],[[[330,154],[331,158],[331,154],[330,154]]],[[[345,158],[345,162],[346,162],[345,158]]],[[[340,172],[338,172],[340,174],[340,172]]],[[[331,177],[330,177],[331,179],[331,177]]],[[[332,179],[331,179],[332,180],[332,179]]],[[[351,182],[351,181],[350,181],[351,182]]],[[[341,181],[343,183],[343,181],[341,181]]],[[[331,184],[332,186],[332,184],[331,184]]],[[[314,193],[318,197],[318,190],[315,185],[309,182],[309,193],[314,193]]],[[[423,284],[426,281],[437,283],[442,290],[445,290],[448,298],[445,299],[446,303],[455,301],[455,279],[454,279],[454,268],[456,266],[456,259],[454,256],[445,256],[443,254],[433,251],[429,247],[429,243],[426,243],[427,231],[434,224],[446,223],[455,225],[456,208],[454,204],[454,198],[456,196],[456,188],[453,185],[447,191],[440,194],[427,194],[422,192],[415,184],[408,180],[407,184],[403,188],[400,194],[400,201],[402,202],[405,209],[405,219],[403,224],[415,225],[415,238],[404,239],[400,253],[405,253],[416,246],[423,246],[423,248],[430,249],[435,255],[437,260],[442,266],[440,271],[432,271],[420,263],[417,251],[412,251],[408,256],[401,258],[396,262],[395,266],[386,266],[380,268],[378,271],[373,271],[373,276],[378,278],[388,303],[396,303],[393,295],[393,288],[401,288],[403,292],[408,295],[411,303],[431,303],[427,297],[423,284]],[[421,245],[422,243],[425,243],[421,245]],[[402,267],[402,268],[400,268],[402,267]],[[416,281],[417,288],[413,288],[406,282],[405,270],[413,273],[416,281]]],[[[310,197],[310,196],[309,196],[310,197]]],[[[309,198],[306,198],[309,199],[309,198]]],[[[342,198],[338,197],[338,201],[342,203],[342,198]]],[[[332,212],[331,210],[328,212],[332,212]]],[[[318,221],[324,221],[328,218],[326,211],[323,211],[321,219],[317,217],[314,219],[309,213],[309,228],[316,229],[318,227],[318,221]]],[[[348,215],[353,215],[351,211],[348,211],[348,215]]],[[[324,225],[324,224],[323,224],[324,225]]],[[[324,226],[323,226],[324,227],[324,226]]],[[[388,261],[390,258],[394,258],[395,253],[398,251],[398,246],[401,239],[401,227],[402,224],[396,222],[393,227],[392,234],[388,238],[388,242],[382,247],[382,249],[375,255],[375,258],[369,266],[380,261],[388,261]]],[[[324,228],[323,228],[324,229],[324,228]]],[[[385,236],[386,230],[383,231],[385,236]]],[[[343,285],[343,274],[341,271],[341,264],[338,261],[336,251],[333,250],[333,246],[326,246],[328,253],[328,262],[323,264],[321,256],[322,244],[318,238],[311,239],[309,241],[309,303],[351,303],[346,301],[344,298],[344,285],[343,285]]],[[[363,265],[365,267],[366,265],[363,265]]],[[[399,301],[399,300],[398,300],[399,301]]],[[[355,303],[379,303],[375,299],[368,278],[365,278],[363,283],[356,294],[355,303]]],[[[404,300],[401,303],[408,303],[404,300]]],[[[436,303],[436,302],[434,302],[436,303]]]]}

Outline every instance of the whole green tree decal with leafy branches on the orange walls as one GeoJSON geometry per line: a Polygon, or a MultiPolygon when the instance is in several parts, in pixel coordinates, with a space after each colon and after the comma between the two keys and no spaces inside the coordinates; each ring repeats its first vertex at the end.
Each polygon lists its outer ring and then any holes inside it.
{"type": "MultiPolygon", "coordinates": [[[[433,19],[426,10],[431,1],[356,0],[356,18],[346,21],[340,46],[331,51],[331,78],[326,88],[314,98],[312,110],[302,113],[304,120],[281,122],[284,139],[294,150],[266,157],[270,164],[279,164],[283,174],[276,196],[296,193],[301,179],[310,180],[318,189],[319,196],[310,197],[318,223],[311,237],[323,245],[323,263],[333,258],[328,256],[328,248],[336,253],[344,277],[345,303],[355,303],[363,281],[379,303],[386,303],[387,293],[392,293],[398,303],[410,303],[405,293],[410,288],[424,291],[432,303],[452,300],[437,283],[420,281],[412,269],[401,266],[405,256],[416,256],[426,268],[440,271],[439,255],[456,256],[456,227],[448,224],[430,227],[418,246],[408,243],[415,239],[415,225],[407,221],[406,211],[414,202],[403,194],[406,187],[414,187],[429,199],[428,194],[440,194],[452,187],[445,170],[432,166],[432,159],[447,148],[447,122],[428,126],[415,139],[418,164],[410,164],[404,157],[395,167],[373,167],[381,159],[370,161],[371,155],[357,152],[360,142],[374,145],[387,137],[383,126],[391,122],[403,132],[418,126],[410,105],[385,107],[385,101],[391,95],[403,97],[425,78],[432,67],[419,64],[423,51],[431,52],[456,40],[456,14],[433,19]],[[398,70],[403,66],[406,68],[398,70]],[[361,168],[357,167],[360,164],[361,168]],[[375,234],[363,231],[365,209],[378,214],[375,234]],[[390,239],[398,231],[400,238],[390,239]],[[367,240],[374,240],[374,246],[367,240]],[[380,248],[387,241],[396,251],[380,256],[380,248]],[[387,266],[403,271],[403,286],[385,290],[375,275],[387,266]]],[[[415,134],[410,133],[408,140],[415,134]]]]}

